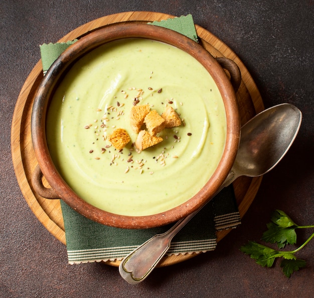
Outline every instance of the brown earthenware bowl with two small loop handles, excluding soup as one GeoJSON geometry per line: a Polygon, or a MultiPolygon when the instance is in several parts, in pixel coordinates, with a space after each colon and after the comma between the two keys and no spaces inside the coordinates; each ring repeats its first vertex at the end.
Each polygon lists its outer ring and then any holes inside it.
{"type": "Polygon", "coordinates": [[[240,137],[240,119],[236,101],[235,88],[239,86],[241,76],[238,68],[226,59],[220,63],[211,56],[200,44],[175,31],[139,23],[118,23],[93,31],[81,37],[70,46],[54,62],[43,78],[37,91],[32,113],[32,140],[39,166],[34,172],[33,186],[46,198],[61,198],[71,208],[85,217],[100,224],[127,228],[141,229],[166,225],[186,217],[193,211],[204,206],[219,189],[227,177],[238,148],[240,137]],[[95,49],[96,47],[122,38],[147,38],[176,46],[196,58],[211,74],[221,92],[227,119],[226,143],[219,165],[199,192],[185,204],[163,213],[149,216],[121,216],[100,210],[82,200],[64,181],[58,173],[48,150],[46,141],[46,114],[54,89],[62,80],[63,75],[73,62],[95,49]],[[223,68],[231,73],[231,83],[223,68]],[[41,178],[45,176],[51,188],[43,186],[41,178]]]}

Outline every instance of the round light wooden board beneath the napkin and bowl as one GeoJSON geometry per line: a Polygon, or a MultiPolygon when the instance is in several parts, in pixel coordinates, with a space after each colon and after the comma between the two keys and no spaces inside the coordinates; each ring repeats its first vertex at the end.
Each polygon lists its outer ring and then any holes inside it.
{"type": "MultiPolygon", "coordinates": [[[[79,38],[90,31],[113,23],[125,21],[147,23],[173,17],[174,16],[155,12],[127,12],[105,16],[78,27],[61,38],[59,42],[67,42],[68,40],[79,38]]],[[[239,66],[242,74],[242,82],[237,92],[237,99],[242,124],[246,123],[254,115],[264,110],[263,102],[255,82],[241,60],[227,45],[198,25],[196,25],[196,30],[199,42],[214,57],[225,56],[235,61],[239,66]]],[[[32,212],[52,235],[66,244],[60,200],[47,200],[39,196],[34,191],[31,183],[31,176],[37,165],[31,138],[31,114],[34,95],[42,78],[43,72],[40,60],[35,65],[22,87],[13,115],[11,131],[13,164],[20,188],[32,212]]],[[[260,182],[261,177],[240,177],[233,183],[241,217],[243,217],[254,200],[260,182]]],[[[217,241],[220,241],[229,232],[230,229],[217,232],[217,241]]],[[[179,263],[195,255],[196,254],[166,256],[160,262],[159,266],[179,263]]],[[[118,266],[120,261],[107,261],[105,263],[118,266]]]]}

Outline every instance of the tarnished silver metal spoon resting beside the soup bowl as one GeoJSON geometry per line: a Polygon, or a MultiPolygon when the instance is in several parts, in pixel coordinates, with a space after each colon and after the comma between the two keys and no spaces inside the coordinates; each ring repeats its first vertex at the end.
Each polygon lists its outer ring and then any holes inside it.
{"type": "MultiPolygon", "coordinates": [[[[248,121],[241,129],[240,145],[234,165],[217,193],[239,176],[257,177],[270,171],[293,143],[301,119],[302,114],[296,107],[281,104],[248,121]]],[[[129,253],[120,263],[120,275],[132,284],[143,281],[165,255],[172,238],[199,210],[129,253]]]]}

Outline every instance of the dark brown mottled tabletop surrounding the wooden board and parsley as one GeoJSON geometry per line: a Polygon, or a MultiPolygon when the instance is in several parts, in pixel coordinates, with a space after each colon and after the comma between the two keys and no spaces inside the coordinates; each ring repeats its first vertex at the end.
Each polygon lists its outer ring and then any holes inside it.
{"type": "MultiPolygon", "coordinates": [[[[279,264],[262,268],[239,251],[259,240],[274,209],[300,225],[314,224],[312,0],[18,1],[0,4],[0,296],[1,297],[312,297],[314,240],[299,254],[307,267],[288,279],[279,264]],[[32,214],[15,177],[10,129],[19,92],[40,59],[39,45],[105,15],[155,11],[193,15],[247,66],[265,107],[290,103],[303,113],[300,132],[266,174],[242,225],[214,252],[156,269],[134,286],[117,268],[68,265],[66,248],[32,214]]],[[[298,233],[298,244],[311,231],[298,233]]]]}

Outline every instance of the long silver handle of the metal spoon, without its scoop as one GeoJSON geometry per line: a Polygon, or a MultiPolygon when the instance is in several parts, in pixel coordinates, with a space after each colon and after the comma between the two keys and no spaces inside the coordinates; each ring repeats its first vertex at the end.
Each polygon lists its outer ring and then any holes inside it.
{"type": "MultiPolygon", "coordinates": [[[[233,170],[225,179],[222,186],[218,189],[215,195],[225,186],[235,180],[236,175],[233,170]]],[[[214,196],[215,196],[214,195],[214,196]]],[[[214,197],[213,196],[213,197],[214,197]]],[[[135,250],[130,252],[120,263],[120,275],[131,284],[143,281],[149,273],[158,265],[162,257],[166,254],[170,247],[171,240],[174,236],[201,210],[194,211],[186,218],[178,221],[168,231],[163,234],[157,234],[135,250]]]]}

